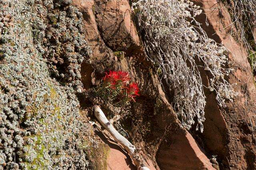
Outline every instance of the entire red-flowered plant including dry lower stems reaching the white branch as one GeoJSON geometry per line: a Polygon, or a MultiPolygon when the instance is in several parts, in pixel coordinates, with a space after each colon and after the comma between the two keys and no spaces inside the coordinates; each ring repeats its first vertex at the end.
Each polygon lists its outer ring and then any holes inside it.
{"type": "Polygon", "coordinates": [[[120,120],[130,114],[130,102],[139,96],[136,82],[130,82],[130,75],[124,71],[109,71],[102,78],[102,83],[92,89],[89,96],[94,104],[100,104],[109,112],[107,117],[123,136],[128,136],[120,120]]]}

